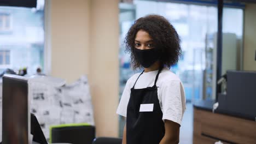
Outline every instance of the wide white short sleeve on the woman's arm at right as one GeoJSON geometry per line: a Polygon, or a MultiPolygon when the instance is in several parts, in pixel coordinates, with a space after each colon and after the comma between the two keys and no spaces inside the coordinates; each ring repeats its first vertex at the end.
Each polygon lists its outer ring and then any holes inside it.
{"type": "Polygon", "coordinates": [[[181,81],[168,81],[161,88],[162,119],[181,125],[185,111],[185,94],[181,81]]]}

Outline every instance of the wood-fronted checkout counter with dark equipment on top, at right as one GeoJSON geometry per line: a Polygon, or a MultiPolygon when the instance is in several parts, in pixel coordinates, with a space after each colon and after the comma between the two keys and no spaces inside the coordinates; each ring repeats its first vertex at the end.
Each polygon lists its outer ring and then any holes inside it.
{"type": "Polygon", "coordinates": [[[226,94],[194,106],[193,143],[256,143],[256,73],[228,71],[226,94]]]}

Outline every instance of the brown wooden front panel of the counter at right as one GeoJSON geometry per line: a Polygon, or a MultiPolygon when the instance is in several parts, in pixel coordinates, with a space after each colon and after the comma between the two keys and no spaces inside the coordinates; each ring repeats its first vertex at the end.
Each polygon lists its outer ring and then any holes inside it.
{"type": "Polygon", "coordinates": [[[231,143],[256,143],[256,122],[195,108],[193,142],[211,143],[214,138],[231,143]]]}

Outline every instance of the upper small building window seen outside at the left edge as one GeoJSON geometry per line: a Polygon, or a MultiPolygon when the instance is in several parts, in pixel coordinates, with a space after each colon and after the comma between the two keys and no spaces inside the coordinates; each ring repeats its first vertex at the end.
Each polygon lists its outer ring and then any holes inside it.
{"type": "Polygon", "coordinates": [[[10,30],[11,30],[10,14],[0,13],[0,31],[10,31],[10,30]]]}

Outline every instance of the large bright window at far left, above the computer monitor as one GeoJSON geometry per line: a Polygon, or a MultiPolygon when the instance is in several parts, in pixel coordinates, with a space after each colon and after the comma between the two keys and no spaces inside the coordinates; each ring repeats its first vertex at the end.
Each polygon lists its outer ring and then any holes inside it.
{"type": "Polygon", "coordinates": [[[0,73],[7,68],[16,73],[27,68],[28,75],[37,68],[44,72],[44,0],[37,5],[0,7],[0,73]]]}

